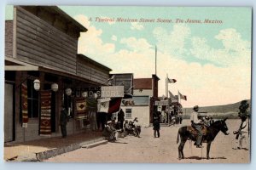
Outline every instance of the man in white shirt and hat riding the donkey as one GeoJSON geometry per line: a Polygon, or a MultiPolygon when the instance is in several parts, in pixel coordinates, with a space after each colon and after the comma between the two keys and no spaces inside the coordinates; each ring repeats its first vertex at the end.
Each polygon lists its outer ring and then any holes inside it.
{"type": "Polygon", "coordinates": [[[193,128],[195,128],[196,132],[198,133],[197,137],[196,137],[195,144],[196,144],[196,148],[202,148],[202,145],[201,145],[201,139],[202,139],[201,121],[198,119],[199,106],[195,105],[193,110],[194,111],[191,113],[191,116],[190,116],[190,121],[191,121],[191,126],[193,128]]]}

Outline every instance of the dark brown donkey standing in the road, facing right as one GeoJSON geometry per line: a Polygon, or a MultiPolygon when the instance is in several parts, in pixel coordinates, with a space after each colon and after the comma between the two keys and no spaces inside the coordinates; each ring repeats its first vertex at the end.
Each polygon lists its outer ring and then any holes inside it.
{"type": "MultiPolygon", "coordinates": [[[[202,141],[203,142],[207,142],[207,159],[210,159],[209,153],[210,153],[210,148],[211,148],[211,144],[212,141],[215,139],[215,137],[217,136],[218,132],[221,131],[222,133],[224,133],[225,135],[229,135],[229,128],[226,125],[226,119],[224,120],[220,120],[220,121],[216,121],[213,122],[209,127],[205,127],[205,133],[203,133],[203,137],[202,137],[202,141]]],[[[191,129],[191,127],[190,127],[191,129]]],[[[195,131],[195,129],[194,129],[195,131]]],[[[189,131],[189,126],[184,126],[184,127],[180,127],[178,129],[177,132],[177,144],[179,142],[179,136],[180,136],[180,144],[178,146],[178,159],[184,159],[184,155],[183,155],[183,147],[184,144],[186,143],[187,139],[191,139],[193,141],[196,141],[196,134],[195,133],[191,133],[191,131],[189,131]]]]}

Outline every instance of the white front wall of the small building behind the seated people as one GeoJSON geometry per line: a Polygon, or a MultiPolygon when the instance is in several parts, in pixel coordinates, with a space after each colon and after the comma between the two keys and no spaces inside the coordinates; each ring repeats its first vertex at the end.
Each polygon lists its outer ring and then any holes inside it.
{"type": "Polygon", "coordinates": [[[133,121],[134,118],[137,117],[138,122],[142,127],[149,126],[149,105],[121,106],[121,108],[124,112],[125,109],[131,109],[131,118],[125,117],[125,120],[133,121]]]}

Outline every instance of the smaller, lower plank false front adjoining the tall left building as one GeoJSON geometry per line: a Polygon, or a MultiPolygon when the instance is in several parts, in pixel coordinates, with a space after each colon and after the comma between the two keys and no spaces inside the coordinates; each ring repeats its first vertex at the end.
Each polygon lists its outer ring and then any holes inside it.
{"type": "Polygon", "coordinates": [[[104,71],[96,65],[91,65],[84,59],[78,57],[77,75],[93,82],[103,83],[108,80],[109,72],[104,71]]]}

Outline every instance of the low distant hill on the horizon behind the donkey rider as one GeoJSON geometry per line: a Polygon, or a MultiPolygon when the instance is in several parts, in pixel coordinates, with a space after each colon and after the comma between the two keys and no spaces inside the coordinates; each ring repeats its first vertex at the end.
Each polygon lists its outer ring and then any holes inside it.
{"type": "MultiPolygon", "coordinates": [[[[249,105],[251,105],[251,100],[247,99],[247,102],[249,105]]],[[[205,106],[200,107],[199,106],[199,112],[202,116],[212,116],[213,118],[223,118],[224,116],[227,116],[229,118],[238,118],[238,111],[239,106],[241,104],[241,101],[235,103],[235,104],[229,104],[229,105],[213,105],[213,106],[205,106]]],[[[193,108],[183,108],[183,115],[184,118],[189,118],[190,114],[193,112],[193,108]]]]}

